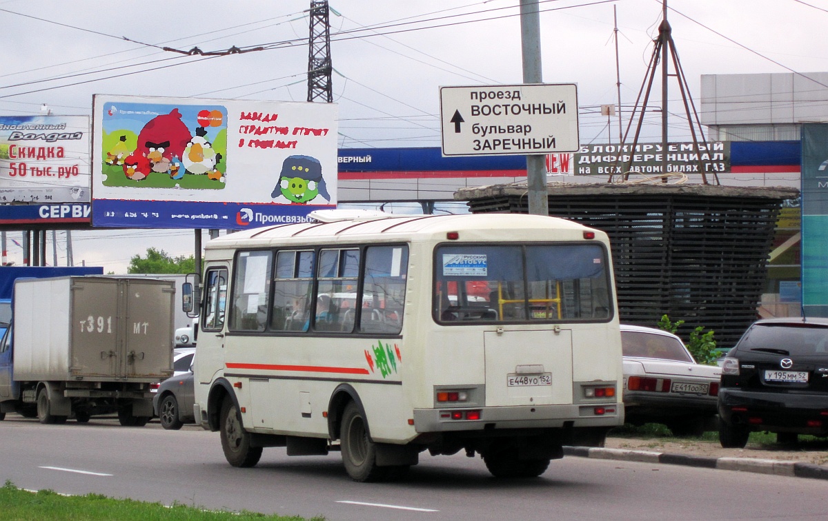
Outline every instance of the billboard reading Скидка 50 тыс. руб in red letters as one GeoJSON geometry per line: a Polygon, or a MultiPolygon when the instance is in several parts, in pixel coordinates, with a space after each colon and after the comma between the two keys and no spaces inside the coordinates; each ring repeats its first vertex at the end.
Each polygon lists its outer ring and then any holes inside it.
{"type": "Polygon", "coordinates": [[[89,117],[0,116],[0,203],[89,203],[89,117]]]}

